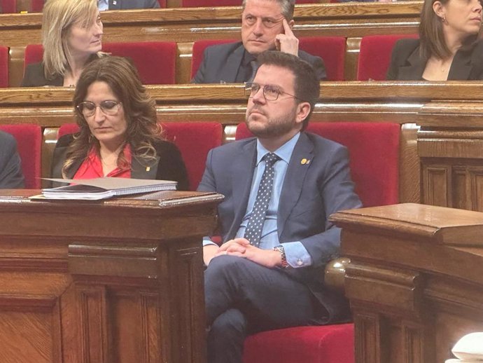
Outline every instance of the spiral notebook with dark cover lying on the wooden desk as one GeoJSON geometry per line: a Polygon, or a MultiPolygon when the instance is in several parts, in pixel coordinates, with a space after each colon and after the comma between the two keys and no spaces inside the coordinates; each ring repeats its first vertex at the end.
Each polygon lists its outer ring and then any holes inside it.
{"type": "Polygon", "coordinates": [[[42,195],[48,199],[99,200],[114,196],[151,193],[153,191],[176,190],[177,182],[171,180],[149,180],[129,178],[96,179],[50,179],[52,182],[72,183],[68,186],[42,189],[42,195]]]}

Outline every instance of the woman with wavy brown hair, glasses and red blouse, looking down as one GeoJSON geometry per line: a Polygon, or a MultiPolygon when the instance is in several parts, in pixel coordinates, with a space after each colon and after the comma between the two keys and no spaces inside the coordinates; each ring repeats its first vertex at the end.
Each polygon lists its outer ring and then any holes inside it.
{"type": "Polygon", "coordinates": [[[164,179],[188,189],[181,153],[162,139],[155,101],[127,58],[102,57],[87,64],[73,106],[80,130],[57,141],[52,177],[164,179]]]}

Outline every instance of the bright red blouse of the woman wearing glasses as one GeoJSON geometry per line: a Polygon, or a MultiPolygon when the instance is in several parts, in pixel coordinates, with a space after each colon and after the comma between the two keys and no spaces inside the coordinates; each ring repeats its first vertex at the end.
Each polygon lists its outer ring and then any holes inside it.
{"type": "MultiPolygon", "coordinates": [[[[131,177],[131,162],[132,153],[130,144],[124,146],[124,157],[127,161],[129,167],[126,169],[116,169],[109,172],[106,177],[118,177],[118,178],[130,178],[131,177]]],[[[102,172],[102,160],[97,153],[95,148],[92,148],[87,155],[87,158],[80,164],[76,174],[74,174],[73,179],[94,179],[104,177],[104,172],[102,172]]]]}

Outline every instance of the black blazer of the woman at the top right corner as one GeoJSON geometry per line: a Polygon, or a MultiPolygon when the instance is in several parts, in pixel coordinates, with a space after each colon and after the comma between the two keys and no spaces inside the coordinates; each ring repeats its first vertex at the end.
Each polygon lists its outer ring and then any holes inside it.
{"type": "MultiPolygon", "coordinates": [[[[393,48],[386,79],[389,81],[421,81],[426,60],[419,55],[419,39],[400,39],[393,48]]],[[[449,69],[448,81],[483,80],[483,41],[458,50],[449,69]]]]}

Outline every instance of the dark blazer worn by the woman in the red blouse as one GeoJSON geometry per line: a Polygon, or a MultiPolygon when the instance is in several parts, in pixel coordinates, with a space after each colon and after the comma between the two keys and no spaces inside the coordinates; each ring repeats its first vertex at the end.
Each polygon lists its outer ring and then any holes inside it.
{"type": "MultiPolygon", "coordinates": [[[[52,158],[52,178],[62,178],[62,165],[66,159],[67,149],[73,141],[73,135],[64,135],[57,140],[54,156],[52,158]]],[[[188,173],[181,153],[175,144],[167,141],[158,141],[153,145],[156,149],[157,163],[146,170],[146,163],[142,163],[139,156],[132,157],[131,177],[133,179],[174,180],[178,182],[179,191],[188,190],[188,173]]],[[[79,159],[69,168],[67,179],[72,179],[84,159],[79,159]]],[[[55,185],[57,186],[57,185],[55,185]]]]}

